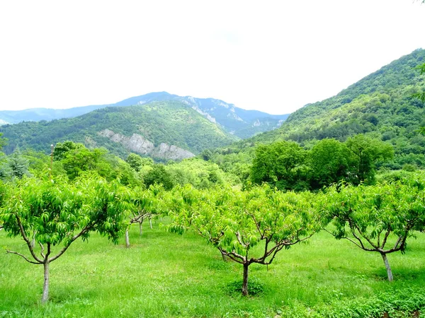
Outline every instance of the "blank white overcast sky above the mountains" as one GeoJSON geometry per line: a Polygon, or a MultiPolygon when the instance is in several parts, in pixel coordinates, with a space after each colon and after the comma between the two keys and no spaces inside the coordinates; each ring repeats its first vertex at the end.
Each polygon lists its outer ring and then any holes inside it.
{"type": "Polygon", "coordinates": [[[414,0],[0,1],[0,110],[165,90],[285,114],[425,48],[414,0]]]}

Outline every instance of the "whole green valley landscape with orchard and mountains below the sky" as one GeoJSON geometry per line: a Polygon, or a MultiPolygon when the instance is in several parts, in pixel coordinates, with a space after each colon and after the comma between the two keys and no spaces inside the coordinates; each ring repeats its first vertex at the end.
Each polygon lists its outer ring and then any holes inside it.
{"type": "Polygon", "coordinates": [[[165,92],[21,112],[0,317],[424,314],[424,91],[416,49],[288,118],[165,92]]]}

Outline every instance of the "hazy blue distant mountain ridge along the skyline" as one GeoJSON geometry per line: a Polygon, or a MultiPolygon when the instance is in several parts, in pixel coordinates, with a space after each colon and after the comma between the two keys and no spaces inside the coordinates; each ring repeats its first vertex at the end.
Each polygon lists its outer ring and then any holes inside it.
{"type": "Polygon", "coordinates": [[[16,124],[18,122],[38,122],[40,120],[77,117],[81,114],[86,114],[105,107],[144,105],[149,102],[166,100],[182,102],[202,114],[205,118],[210,120],[210,122],[220,124],[227,132],[239,138],[248,138],[263,131],[276,129],[289,115],[272,115],[265,112],[259,112],[258,110],[242,110],[242,108],[235,107],[233,104],[227,104],[227,102],[214,98],[182,97],[166,92],[159,92],[128,98],[116,102],[115,104],[74,107],[67,110],[52,110],[48,108],[4,110],[0,111],[0,124],[1,122],[16,124]]]}

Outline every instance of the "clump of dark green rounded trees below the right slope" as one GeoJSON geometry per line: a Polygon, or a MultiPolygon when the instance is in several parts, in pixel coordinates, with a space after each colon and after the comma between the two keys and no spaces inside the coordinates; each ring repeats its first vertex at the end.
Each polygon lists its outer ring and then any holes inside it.
{"type": "Polygon", "coordinates": [[[278,189],[319,189],[346,180],[373,183],[375,168],[394,154],[389,143],[356,135],[341,143],[323,139],[310,151],[293,141],[259,145],[251,166],[251,180],[266,182],[278,189]]]}

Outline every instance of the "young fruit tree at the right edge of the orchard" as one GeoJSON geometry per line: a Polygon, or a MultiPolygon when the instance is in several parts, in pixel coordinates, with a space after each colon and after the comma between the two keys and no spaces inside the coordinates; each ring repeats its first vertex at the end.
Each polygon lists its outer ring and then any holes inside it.
{"type": "Polygon", "coordinates": [[[424,183],[339,184],[325,189],[321,197],[323,214],[334,225],[331,234],[379,253],[392,281],[387,254],[404,253],[407,237],[425,229],[424,183]]]}

